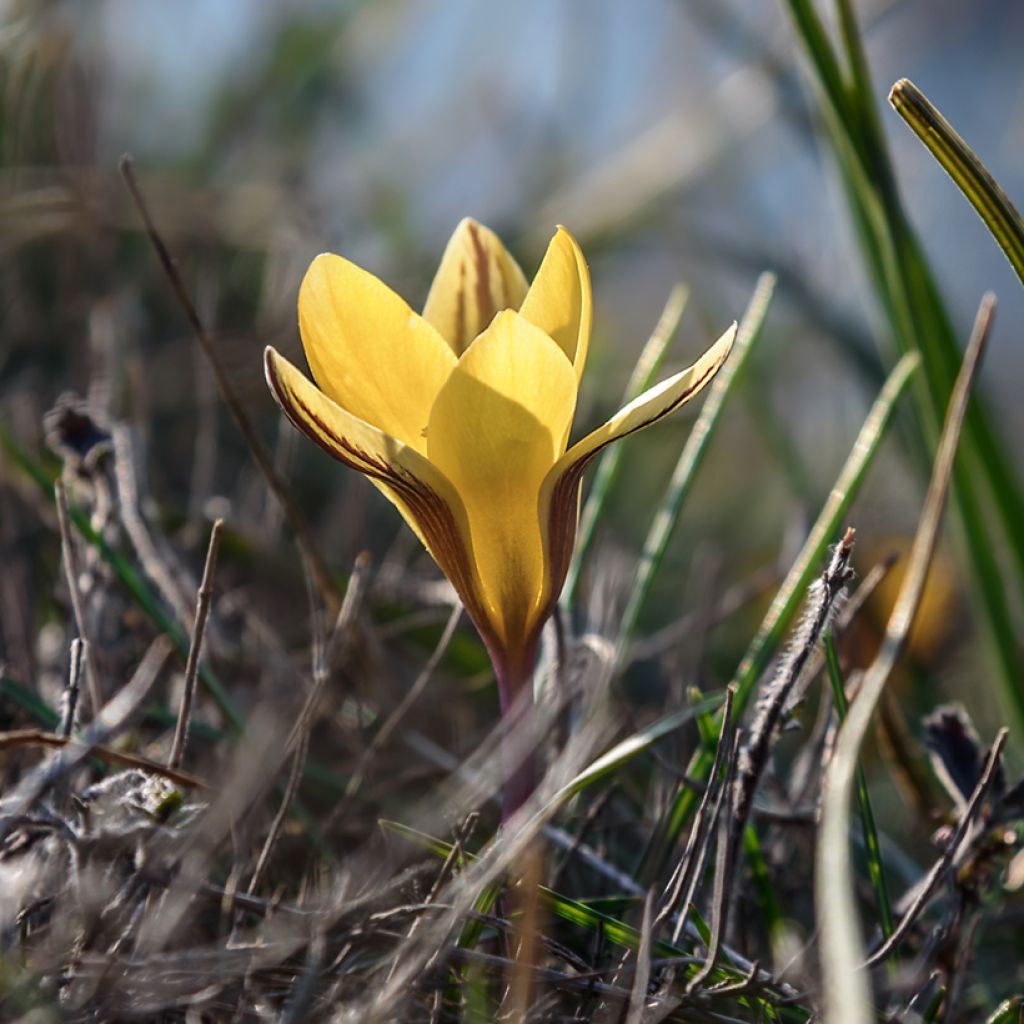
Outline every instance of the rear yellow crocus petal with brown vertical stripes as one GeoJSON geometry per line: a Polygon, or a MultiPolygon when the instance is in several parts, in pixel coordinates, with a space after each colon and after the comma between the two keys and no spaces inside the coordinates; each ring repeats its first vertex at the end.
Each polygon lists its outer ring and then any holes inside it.
{"type": "Polygon", "coordinates": [[[469,217],[463,218],[444,249],[423,307],[457,355],[503,309],[518,309],[526,279],[501,239],[469,217]]]}

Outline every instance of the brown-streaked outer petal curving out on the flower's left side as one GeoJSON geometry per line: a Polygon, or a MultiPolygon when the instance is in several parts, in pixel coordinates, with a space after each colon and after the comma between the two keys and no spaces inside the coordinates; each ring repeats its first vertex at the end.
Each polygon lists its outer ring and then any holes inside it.
{"type": "Polygon", "coordinates": [[[325,452],[370,477],[452,581],[467,610],[482,611],[465,508],[415,449],[346,413],[269,346],[266,380],[292,423],[325,452]]]}

